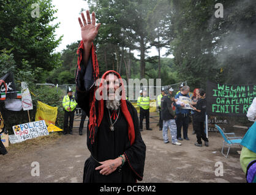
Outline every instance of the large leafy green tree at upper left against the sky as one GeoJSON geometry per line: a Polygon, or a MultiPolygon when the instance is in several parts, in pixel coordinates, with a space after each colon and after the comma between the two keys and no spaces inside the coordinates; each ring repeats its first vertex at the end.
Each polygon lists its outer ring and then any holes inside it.
{"type": "Polygon", "coordinates": [[[1,1],[0,6],[0,50],[12,49],[15,65],[23,71],[21,76],[30,68],[37,82],[45,80],[46,71],[60,63],[60,55],[53,53],[61,38],[56,40],[54,35],[58,24],[50,25],[56,13],[51,1],[1,1]],[[34,3],[39,4],[39,18],[31,15],[34,3]]]}

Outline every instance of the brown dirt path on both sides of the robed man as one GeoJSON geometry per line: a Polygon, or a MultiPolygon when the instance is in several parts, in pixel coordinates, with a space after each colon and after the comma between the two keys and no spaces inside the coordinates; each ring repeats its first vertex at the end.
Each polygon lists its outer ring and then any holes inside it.
{"type": "MultiPolygon", "coordinates": [[[[222,137],[219,133],[209,132],[209,147],[196,147],[190,124],[190,141],[184,140],[182,146],[175,146],[164,144],[156,124],[151,127],[152,131],[141,132],[147,146],[142,182],[246,182],[237,152],[241,149],[232,147],[225,158],[220,154],[222,137]],[[215,175],[216,162],[223,164],[223,176],[215,175]]],[[[85,128],[83,132],[80,136],[78,129],[74,129],[73,135],[61,135],[48,144],[20,151],[10,151],[7,147],[9,154],[0,156],[0,182],[82,182],[83,165],[89,157],[85,128]],[[31,176],[33,161],[40,165],[39,177],[31,176]]],[[[244,133],[237,134],[243,136],[244,133]]]]}

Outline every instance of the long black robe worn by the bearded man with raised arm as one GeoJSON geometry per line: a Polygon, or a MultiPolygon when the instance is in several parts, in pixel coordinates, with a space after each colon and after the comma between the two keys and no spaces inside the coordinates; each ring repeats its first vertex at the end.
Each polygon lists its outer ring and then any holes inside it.
{"type": "MultiPolygon", "coordinates": [[[[80,65],[81,69],[77,71],[77,90],[75,93],[76,101],[80,108],[85,110],[89,117],[89,99],[93,93],[94,80],[92,79],[92,58],[89,58],[88,66],[85,69],[84,65],[80,65]]],[[[128,137],[128,126],[126,118],[120,110],[119,118],[114,127],[115,130],[110,130],[110,121],[108,110],[105,108],[104,102],[104,116],[100,126],[97,128],[95,142],[91,144],[89,140],[89,121],[87,126],[87,146],[91,152],[92,157],[85,161],[83,182],[136,182],[136,180],[143,179],[143,171],[146,157],[146,145],[143,142],[138,125],[138,114],[134,106],[126,101],[127,108],[132,116],[135,130],[135,141],[130,145],[128,137]],[[97,161],[105,161],[115,159],[119,155],[126,156],[126,162],[121,170],[116,169],[108,176],[102,176],[100,170],[95,170],[100,166],[97,161]],[[94,160],[95,159],[95,160],[94,160]],[[97,161],[96,161],[97,160],[97,161]]],[[[96,112],[98,112],[99,101],[96,100],[96,112]]]]}

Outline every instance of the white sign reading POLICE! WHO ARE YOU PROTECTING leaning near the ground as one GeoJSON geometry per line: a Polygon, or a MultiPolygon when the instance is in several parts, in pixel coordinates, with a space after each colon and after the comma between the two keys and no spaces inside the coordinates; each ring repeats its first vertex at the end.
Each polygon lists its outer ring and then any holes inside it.
{"type": "Polygon", "coordinates": [[[9,135],[11,144],[49,135],[45,121],[28,122],[12,127],[14,135],[9,135]]]}

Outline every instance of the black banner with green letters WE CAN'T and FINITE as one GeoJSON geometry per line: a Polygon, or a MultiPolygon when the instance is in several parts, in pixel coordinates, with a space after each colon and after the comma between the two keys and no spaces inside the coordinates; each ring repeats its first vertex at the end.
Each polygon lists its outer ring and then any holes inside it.
{"type": "Polygon", "coordinates": [[[207,82],[208,115],[245,116],[256,96],[256,85],[232,85],[207,82]]]}

